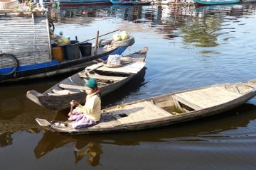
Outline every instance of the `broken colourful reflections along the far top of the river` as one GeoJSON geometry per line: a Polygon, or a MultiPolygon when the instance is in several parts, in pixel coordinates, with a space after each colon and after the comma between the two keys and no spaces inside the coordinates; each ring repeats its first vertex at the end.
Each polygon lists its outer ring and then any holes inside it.
{"type": "MultiPolygon", "coordinates": [[[[164,39],[176,38],[196,47],[218,46],[218,30],[227,16],[254,15],[255,4],[222,6],[103,6],[61,8],[61,23],[90,24],[95,18],[120,18],[119,28],[129,33],[156,32],[164,39]],[[122,22],[129,21],[129,22],[122,22]],[[136,24],[134,24],[136,23],[136,24]]],[[[234,19],[235,19],[234,18],[234,19]]]]}

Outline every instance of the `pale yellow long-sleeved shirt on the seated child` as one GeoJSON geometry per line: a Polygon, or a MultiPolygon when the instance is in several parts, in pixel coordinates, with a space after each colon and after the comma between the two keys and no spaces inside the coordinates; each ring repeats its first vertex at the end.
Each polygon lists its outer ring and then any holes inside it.
{"type": "Polygon", "coordinates": [[[95,122],[100,120],[101,113],[101,101],[100,97],[97,96],[96,93],[97,92],[86,96],[85,106],[78,106],[80,112],[82,112],[87,116],[87,118],[90,118],[95,122]]]}

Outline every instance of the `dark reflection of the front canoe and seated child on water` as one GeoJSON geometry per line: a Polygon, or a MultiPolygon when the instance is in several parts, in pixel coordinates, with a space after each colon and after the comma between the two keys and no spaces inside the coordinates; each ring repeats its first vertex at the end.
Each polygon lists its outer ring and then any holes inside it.
{"type": "MultiPolygon", "coordinates": [[[[246,127],[252,120],[256,119],[255,113],[256,106],[246,103],[222,115],[151,130],[100,135],[61,135],[55,132],[45,131],[34,149],[34,154],[39,159],[54,149],[72,145],[75,163],[82,160],[85,155],[89,155],[87,157],[87,163],[96,166],[100,162],[100,154],[104,152],[102,149],[103,144],[130,146],[140,145],[141,142],[186,141],[190,137],[196,137],[193,140],[195,142],[201,141],[200,137],[202,138],[203,135],[213,135],[246,127]],[[200,140],[198,140],[198,137],[200,140]]],[[[213,137],[218,138],[223,136],[217,135],[213,137]]]]}

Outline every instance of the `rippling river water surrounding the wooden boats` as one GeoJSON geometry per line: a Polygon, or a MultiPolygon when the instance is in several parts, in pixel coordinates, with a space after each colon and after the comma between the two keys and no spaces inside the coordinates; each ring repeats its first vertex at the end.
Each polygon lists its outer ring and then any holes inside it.
{"type": "MultiPolygon", "coordinates": [[[[55,31],[71,39],[121,28],[149,47],[146,70],[102,107],[171,91],[255,79],[256,4],[62,8],[55,31]],[[81,15],[81,13],[85,15],[81,15]]],[[[256,99],[218,116],[154,130],[58,135],[35,118],[63,120],[26,98],[65,77],[0,86],[0,169],[255,169],[256,99]]]]}

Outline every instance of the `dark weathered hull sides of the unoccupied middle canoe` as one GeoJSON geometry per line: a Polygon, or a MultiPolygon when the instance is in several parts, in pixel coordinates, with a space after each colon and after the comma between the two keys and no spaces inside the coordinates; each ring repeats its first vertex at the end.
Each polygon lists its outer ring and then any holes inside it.
{"type": "MultiPolygon", "coordinates": [[[[129,55],[131,57],[140,57],[142,61],[145,60],[146,57],[147,48],[144,48],[140,52],[135,52],[132,55],[129,55]],[[138,56],[136,56],[138,55],[138,56]]],[[[64,79],[63,81],[60,81],[58,84],[55,84],[55,86],[48,89],[43,94],[38,93],[37,91],[28,91],[27,97],[31,99],[31,101],[37,103],[39,106],[42,106],[44,108],[49,108],[53,110],[63,110],[66,108],[70,108],[70,101],[75,100],[79,103],[85,103],[85,91],[76,91],[75,94],[67,94],[67,95],[61,95],[61,96],[49,96],[48,93],[53,91],[53,89],[60,89],[60,84],[70,84],[70,80],[72,80],[72,84],[81,86],[83,81],[81,81],[80,74],[81,72],[78,72],[76,74],[73,74],[73,76],[68,77],[67,79],[64,79]]],[[[139,74],[139,72],[137,73],[139,74]]],[[[123,86],[126,84],[129,80],[131,80],[133,77],[135,77],[137,74],[129,74],[125,79],[122,79],[120,81],[115,81],[113,84],[109,84],[107,86],[102,86],[100,88],[101,96],[105,96],[107,94],[110,94],[112,91],[119,89],[120,86],[123,86]]]]}

